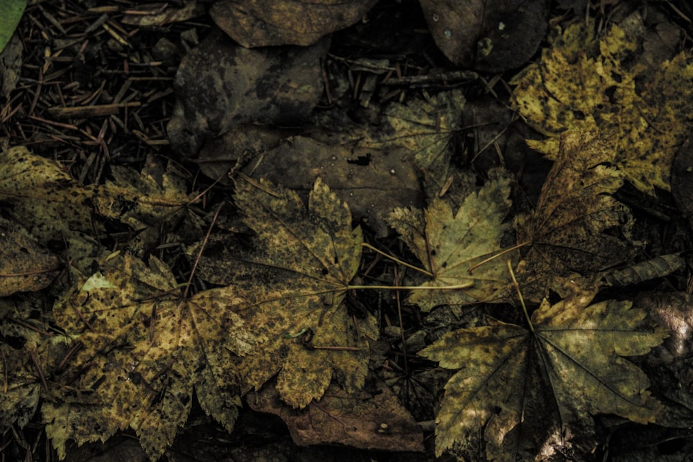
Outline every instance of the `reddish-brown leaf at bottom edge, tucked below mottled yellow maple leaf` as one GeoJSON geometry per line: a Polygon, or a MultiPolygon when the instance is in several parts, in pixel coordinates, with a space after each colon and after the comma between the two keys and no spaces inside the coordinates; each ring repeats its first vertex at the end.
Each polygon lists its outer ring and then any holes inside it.
{"type": "Polygon", "coordinates": [[[338,443],[369,450],[423,451],[421,427],[381,382],[356,393],[333,382],[319,402],[301,410],[284,405],[273,382],[249,398],[251,409],[281,417],[297,445],[338,443]]]}

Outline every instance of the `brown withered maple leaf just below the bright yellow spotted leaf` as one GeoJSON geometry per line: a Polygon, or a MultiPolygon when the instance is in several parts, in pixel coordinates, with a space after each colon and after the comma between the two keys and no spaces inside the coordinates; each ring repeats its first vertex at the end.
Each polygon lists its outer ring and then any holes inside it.
{"type": "Polygon", "coordinates": [[[518,242],[531,244],[518,267],[525,298],[543,299],[552,278],[586,276],[633,257],[635,246],[621,237],[631,220],[629,209],[611,196],[622,185],[622,175],[598,165],[611,156],[612,147],[608,133],[561,136],[559,157],[534,214],[516,217],[518,242]]]}

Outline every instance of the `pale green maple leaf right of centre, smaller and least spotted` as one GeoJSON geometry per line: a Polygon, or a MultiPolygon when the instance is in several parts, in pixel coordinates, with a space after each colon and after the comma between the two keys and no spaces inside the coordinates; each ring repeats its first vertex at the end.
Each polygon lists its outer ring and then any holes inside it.
{"type": "Polygon", "coordinates": [[[436,305],[465,305],[500,302],[505,299],[509,276],[506,260],[516,260],[516,253],[495,258],[474,267],[501,250],[501,240],[511,229],[504,222],[511,201],[510,179],[499,177],[488,181],[478,193],[468,195],[457,211],[440,197],[426,208],[397,208],[389,224],[432,275],[423,287],[441,290],[414,290],[408,301],[428,311],[436,305]],[[464,290],[446,287],[473,283],[464,290]]]}

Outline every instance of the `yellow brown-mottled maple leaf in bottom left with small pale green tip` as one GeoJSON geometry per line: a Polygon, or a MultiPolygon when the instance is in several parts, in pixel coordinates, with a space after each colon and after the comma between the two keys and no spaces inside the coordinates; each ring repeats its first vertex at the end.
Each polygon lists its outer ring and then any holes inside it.
{"type": "Polygon", "coordinates": [[[240,404],[232,357],[253,348],[229,287],[181,296],[173,274],[114,254],[66,301],[55,319],[84,344],[63,385],[42,407],[46,433],[64,457],[67,438],[96,441],[128,426],[152,460],[187,419],[193,387],[202,409],[229,431],[240,404]]]}

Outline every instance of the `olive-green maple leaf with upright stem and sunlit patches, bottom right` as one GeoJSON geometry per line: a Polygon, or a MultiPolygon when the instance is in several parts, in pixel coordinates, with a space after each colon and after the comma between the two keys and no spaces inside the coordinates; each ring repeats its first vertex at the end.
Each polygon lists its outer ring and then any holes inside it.
{"type": "Polygon", "coordinates": [[[593,444],[590,415],[656,421],[663,406],[647,391],[647,375],[623,357],[648,353],[666,335],[639,330],[646,312],[629,301],[589,305],[593,294],[543,301],[529,330],[495,321],[421,350],[459,369],[436,418],[437,455],[470,445],[480,432],[482,458],[495,461],[533,460],[570,440],[574,454],[584,454],[593,444]]]}

